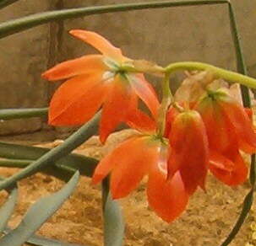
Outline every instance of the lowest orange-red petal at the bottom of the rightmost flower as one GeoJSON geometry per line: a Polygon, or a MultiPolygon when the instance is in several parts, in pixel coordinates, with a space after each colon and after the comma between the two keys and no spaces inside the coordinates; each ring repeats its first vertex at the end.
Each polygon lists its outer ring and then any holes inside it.
{"type": "Polygon", "coordinates": [[[237,151],[237,154],[232,158],[232,160],[227,159],[224,156],[219,155],[215,156],[215,163],[219,163],[218,166],[213,164],[210,161],[210,171],[215,175],[217,179],[220,179],[221,182],[234,186],[242,184],[248,177],[248,167],[244,163],[240,153],[237,151]],[[231,170],[226,170],[226,163],[233,163],[233,168],[231,170]]]}

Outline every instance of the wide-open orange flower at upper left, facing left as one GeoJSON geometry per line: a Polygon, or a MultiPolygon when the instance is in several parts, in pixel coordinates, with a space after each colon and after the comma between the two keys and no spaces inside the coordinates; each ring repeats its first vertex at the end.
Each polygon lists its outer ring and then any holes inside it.
{"type": "MultiPolygon", "coordinates": [[[[105,142],[110,132],[122,121],[139,126],[141,119],[147,119],[147,115],[137,110],[138,98],[144,101],[153,116],[157,114],[159,103],[150,83],[143,74],[125,70],[132,60],[94,32],[74,29],[70,34],[93,45],[102,55],[64,61],[42,74],[43,78],[52,81],[69,78],[52,97],[49,124],[83,124],[103,104],[100,137],[101,142],[105,142]]],[[[154,126],[152,122],[151,126],[154,126]]]]}

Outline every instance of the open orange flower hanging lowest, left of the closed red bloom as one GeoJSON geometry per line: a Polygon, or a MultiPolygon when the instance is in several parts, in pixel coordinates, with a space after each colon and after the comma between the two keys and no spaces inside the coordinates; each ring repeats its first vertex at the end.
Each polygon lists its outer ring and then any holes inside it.
{"type": "Polygon", "coordinates": [[[149,204],[163,220],[172,222],[185,209],[188,194],[179,172],[166,180],[168,152],[168,145],[156,136],[133,136],[101,160],[92,182],[97,184],[112,172],[110,189],[117,199],[128,195],[148,174],[149,204]]]}

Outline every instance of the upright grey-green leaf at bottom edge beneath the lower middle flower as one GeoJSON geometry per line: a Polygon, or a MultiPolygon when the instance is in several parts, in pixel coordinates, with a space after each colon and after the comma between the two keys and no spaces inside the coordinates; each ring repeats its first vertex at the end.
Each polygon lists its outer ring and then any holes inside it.
{"type": "Polygon", "coordinates": [[[117,201],[112,200],[108,179],[102,182],[102,209],[104,217],[104,246],[122,246],[124,222],[117,201]]]}

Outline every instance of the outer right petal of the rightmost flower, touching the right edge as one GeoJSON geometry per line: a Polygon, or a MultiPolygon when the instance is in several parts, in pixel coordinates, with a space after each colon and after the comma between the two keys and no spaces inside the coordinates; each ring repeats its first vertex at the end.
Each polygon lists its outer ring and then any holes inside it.
{"type": "Polygon", "coordinates": [[[248,114],[240,104],[236,102],[220,101],[226,118],[237,134],[239,148],[244,152],[256,152],[256,133],[248,114]]]}

